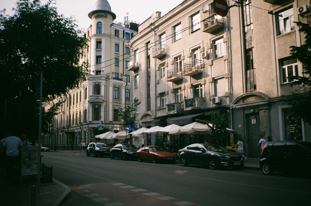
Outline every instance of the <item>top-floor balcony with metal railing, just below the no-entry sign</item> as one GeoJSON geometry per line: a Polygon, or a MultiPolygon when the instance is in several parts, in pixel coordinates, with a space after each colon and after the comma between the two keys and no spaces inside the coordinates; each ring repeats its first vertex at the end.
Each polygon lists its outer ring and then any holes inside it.
{"type": "Polygon", "coordinates": [[[215,34],[225,27],[225,17],[218,18],[213,15],[203,20],[203,31],[210,34],[215,34]]]}

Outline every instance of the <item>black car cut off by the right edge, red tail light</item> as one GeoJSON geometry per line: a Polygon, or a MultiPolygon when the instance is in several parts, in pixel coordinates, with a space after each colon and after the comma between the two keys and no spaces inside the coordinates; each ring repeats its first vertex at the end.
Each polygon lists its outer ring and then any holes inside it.
{"type": "Polygon", "coordinates": [[[267,142],[262,149],[260,168],[263,174],[280,172],[311,172],[311,142],[267,142]]]}

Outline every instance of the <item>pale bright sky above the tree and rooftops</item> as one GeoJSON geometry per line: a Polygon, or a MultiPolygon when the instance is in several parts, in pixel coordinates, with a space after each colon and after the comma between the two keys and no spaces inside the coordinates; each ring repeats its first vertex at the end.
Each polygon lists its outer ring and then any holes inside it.
{"type": "MultiPolygon", "coordinates": [[[[75,16],[80,29],[86,29],[91,25],[88,13],[93,11],[97,0],[56,0],[56,7],[59,14],[65,17],[75,16]]],[[[108,0],[111,11],[117,16],[115,21],[124,22],[124,17],[128,13],[129,21],[138,23],[144,22],[152,13],[161,11],[161,16],[178,6],[183,0],[108,0]]],[[[6,9],[6,13],[12,16],[12,8],[16,7],[17,0],[0,0],[0,10],[6,9]]],[[[47,0],[41,0],[46,3],[47,0]]]]}

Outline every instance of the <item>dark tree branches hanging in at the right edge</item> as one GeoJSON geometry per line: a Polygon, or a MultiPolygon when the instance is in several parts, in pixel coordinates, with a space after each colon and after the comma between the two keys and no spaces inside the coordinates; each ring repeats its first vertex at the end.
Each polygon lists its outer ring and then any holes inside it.
{"type": "Polygon", "coordinates": [[[291,80],[295,79],[290,86],[299,85],[299,91],[296,91],[291,95],[288,104],[292,106],[296,117],[300,117],[304,122],[311,124],[311,111],[307,109],[311,104],[311,27],[309,24],[300,21],[295,23],[300,27],[299,32],[305,34],[305,42],[299,47],[291,46],[290,54],[302,63],[303,76],[290,77],[291,80]]]}

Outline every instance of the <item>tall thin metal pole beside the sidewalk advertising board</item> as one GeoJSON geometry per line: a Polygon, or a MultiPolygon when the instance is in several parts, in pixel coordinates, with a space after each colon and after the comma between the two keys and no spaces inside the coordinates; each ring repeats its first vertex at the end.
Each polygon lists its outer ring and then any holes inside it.
{"type": "Polygon", "coordinates": [[[43,71],[40,72],[40,103],[39,103],[39,141],[38,141],[38,165],[37,165],[37,192],[40,192],[40,167],[41,167],[41,130],[42,130],[42,84],[43,71]]]}

